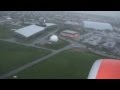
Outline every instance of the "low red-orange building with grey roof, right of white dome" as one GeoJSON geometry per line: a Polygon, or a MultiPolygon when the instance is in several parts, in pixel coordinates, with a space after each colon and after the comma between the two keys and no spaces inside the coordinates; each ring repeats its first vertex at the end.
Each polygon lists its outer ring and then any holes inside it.
{"type": "Polygon", "coordinates": [[[76,39],[76,38],[80,37],[78,32],[75,32],[75,31],[72,31],[72,30],[64,30],[60,34],[61,34],[61,36],[68,37],[68,38],[73,38],[73,39],[76,39]]]}

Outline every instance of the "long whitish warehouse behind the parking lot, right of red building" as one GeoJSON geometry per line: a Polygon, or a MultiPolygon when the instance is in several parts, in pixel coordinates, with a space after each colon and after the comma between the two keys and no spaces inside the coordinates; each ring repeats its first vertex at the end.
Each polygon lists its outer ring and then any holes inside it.
{"type": "Polygon", "coordinates": [[[83,21],[85,29],[89,30],[110,30],[113,31],[113,27],[109,23],[83,21]]]}

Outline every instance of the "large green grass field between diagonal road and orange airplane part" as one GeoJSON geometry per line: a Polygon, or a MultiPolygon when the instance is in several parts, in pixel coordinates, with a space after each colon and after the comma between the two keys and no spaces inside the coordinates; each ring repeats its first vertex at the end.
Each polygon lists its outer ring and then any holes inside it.
{"type": "Polygon", "coordinates": [[[67,50],[16,75],[18,79],[86,79],[94,61],[100,58],[93,53],[67,50]]]}

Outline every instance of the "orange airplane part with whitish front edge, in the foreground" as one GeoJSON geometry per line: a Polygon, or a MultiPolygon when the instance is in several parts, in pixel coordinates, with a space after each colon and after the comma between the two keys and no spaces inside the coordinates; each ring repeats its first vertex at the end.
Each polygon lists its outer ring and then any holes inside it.
{"type": "Polygon", "coordinates": [[[120,79],[120,60],[100,59],[95,61],[88,79],[120,79]]]}

